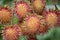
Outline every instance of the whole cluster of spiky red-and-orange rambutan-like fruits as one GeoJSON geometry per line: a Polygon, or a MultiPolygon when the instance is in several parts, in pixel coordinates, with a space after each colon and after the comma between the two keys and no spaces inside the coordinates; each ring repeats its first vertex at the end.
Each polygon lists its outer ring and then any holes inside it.
{"type": "Polygon", "coordinates": [[[31,0],[30,3],[21,0],[14,5],[14,10],[0,7],[0,23],[5,26],[2,30],[4,40],[18,40],[21,35],[28,35],[28,40],[37,40],[36,34],[44,34],[60,24],[60,12],[46,10],[46,0],[31,0]],[[19,19],[16,24],[11,22],[14,15],[19,19]]]}

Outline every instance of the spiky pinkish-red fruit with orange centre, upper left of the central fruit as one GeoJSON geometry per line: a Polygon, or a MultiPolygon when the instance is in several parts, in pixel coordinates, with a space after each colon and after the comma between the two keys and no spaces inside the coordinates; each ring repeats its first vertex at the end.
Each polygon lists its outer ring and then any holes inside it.
{"type": "Polygon", "coordinates": [[[26,2],[17,2],[15,4],[15,12],[18,18],[22,19],[24,18],[27,14],[30,13],[30,7],[26,2]]]}

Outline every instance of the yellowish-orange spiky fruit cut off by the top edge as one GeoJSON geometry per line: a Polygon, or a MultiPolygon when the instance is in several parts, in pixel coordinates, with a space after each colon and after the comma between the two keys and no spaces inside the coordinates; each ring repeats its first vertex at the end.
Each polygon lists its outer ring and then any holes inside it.
{"type": "Polygon", "coordinates": [[[45,0],[32,0],[32,6],[36,13],[41,14],[45,7],[45,0]]]}

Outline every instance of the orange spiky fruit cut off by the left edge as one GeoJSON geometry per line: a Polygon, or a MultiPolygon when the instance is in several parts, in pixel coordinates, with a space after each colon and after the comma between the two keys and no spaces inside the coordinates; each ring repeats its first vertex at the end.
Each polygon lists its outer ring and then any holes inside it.
{"type": "Polygon", "coordinates": [[[0,7],[0,22],[6,24],[11,22],[12,11],[7,7],[0,7]]]}

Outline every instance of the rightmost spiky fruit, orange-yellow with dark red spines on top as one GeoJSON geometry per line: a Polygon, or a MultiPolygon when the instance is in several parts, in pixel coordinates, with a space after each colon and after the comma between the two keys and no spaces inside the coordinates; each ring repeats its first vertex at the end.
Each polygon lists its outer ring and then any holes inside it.
{"type": "Polygon", "coordinates": [[[48,26],[55,26],[55,25],[57,25],[58,14],[56,13],[56,11],[54,11],[52,9],[45,10],[43,12],[43,15],[45,17],[45,21],[46,21],[46,24],[48,26]]]}

